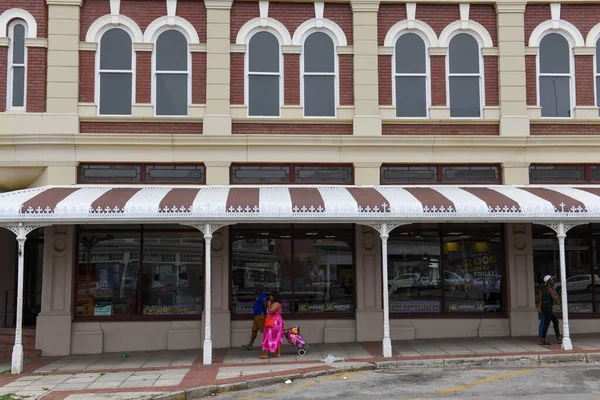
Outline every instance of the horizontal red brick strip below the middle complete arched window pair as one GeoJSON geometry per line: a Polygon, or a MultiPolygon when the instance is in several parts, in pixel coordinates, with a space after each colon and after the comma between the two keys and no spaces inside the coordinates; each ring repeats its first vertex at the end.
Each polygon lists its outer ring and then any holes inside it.
{"type": "Polygon", "coordinates": [[[234,123],[232,133],[238,135],[352,135],[352,124],[280,124],[234,123]]]}

